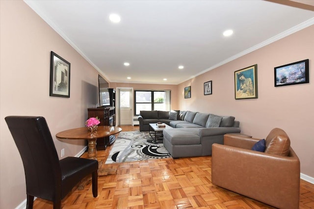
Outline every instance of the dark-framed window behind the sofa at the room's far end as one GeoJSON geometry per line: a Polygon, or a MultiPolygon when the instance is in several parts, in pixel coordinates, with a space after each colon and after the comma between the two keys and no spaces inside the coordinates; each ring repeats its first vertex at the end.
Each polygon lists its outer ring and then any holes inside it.
{"type": "Polygon", "coordinates": [[[134,115],[141,110],[170,111],[170,91],[134,91],[134,115]]]}

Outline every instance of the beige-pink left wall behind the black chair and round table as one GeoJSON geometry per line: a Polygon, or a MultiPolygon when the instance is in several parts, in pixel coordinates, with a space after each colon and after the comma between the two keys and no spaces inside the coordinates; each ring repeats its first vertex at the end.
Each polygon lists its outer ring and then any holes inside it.
{"type": "Polygon", "coordinates": [[[58,155],[78,154],[83,140],[55,138],[82,127],[97,103],[98,72],[23,1],[0,0],[0,208],[26,199],[21,157],[4,121],[9,115],[44,116],[58,155]],[[71,63],[70,98],[49,96],[50,51],[71,63]]]}

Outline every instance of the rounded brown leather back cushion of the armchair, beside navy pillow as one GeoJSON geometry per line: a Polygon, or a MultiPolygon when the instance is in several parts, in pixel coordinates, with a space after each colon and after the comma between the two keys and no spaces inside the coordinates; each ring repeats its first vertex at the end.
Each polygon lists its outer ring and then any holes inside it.
{"type": "Polygon", "coordinates": [[[271,133],[266,138],[265,153],[270,153],[280,156],[288,156],[290,149],[290,139],[288,135],[278,134],[272,136],[271,133]]]}

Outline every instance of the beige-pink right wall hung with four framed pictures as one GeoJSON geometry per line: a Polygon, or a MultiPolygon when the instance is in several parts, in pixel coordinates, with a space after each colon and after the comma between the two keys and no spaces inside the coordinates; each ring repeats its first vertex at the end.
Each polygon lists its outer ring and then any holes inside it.
{"type": "MultiPolygon", "coordinates": [[[[217,69],[178,85],[180,110],[232,115],[241,132],[265,138],[272,128],[284,129],[301,161],[301,173],[314,179],[314,25],[264,46],[217,69]],[[274,67],[310,60],[310,83],[274,87],[274,67]],[[258,65],[258,98],[235,100],[234,72],[258,65]],[[212,80],[212,94],[204,82],[212,80]],[[184,87],[191,98],[184,99],[184,87]]],[[[284,174],[283,174],[284,175],[284,174]]]]}

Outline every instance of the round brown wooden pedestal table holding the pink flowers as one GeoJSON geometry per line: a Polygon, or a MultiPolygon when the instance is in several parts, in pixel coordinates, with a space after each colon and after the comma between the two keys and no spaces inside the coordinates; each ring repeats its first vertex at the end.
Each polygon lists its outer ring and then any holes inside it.
{"type": "MultiPolygon", "coordinates": [[[[98,126],[97,131],[90,132],[87,127],[74,128],[57,133],[55,136],[59,139],[87,139],[88,141],[88,158],[97,160],[96,141],[98,138],[115,135],[117,138],[122,131],[119,127],[98,126]]],[[[102,163],[101,163],[102,164],[102,163]]],[[[101,166],[100,164],[100,166],[101,166]]],[[[98,169],[98,175],[114,174],[116,169],[98,169]]]]}

